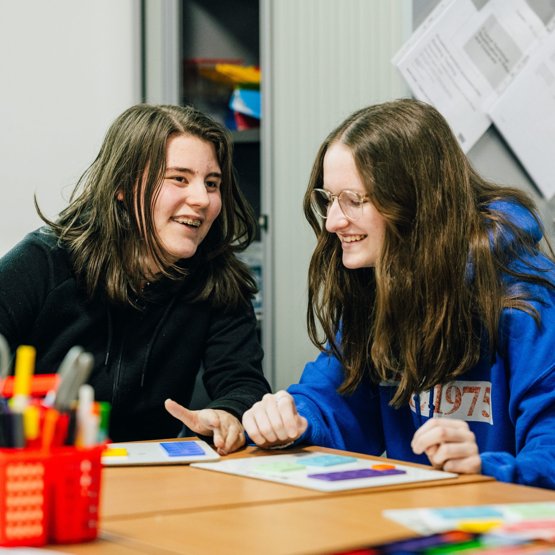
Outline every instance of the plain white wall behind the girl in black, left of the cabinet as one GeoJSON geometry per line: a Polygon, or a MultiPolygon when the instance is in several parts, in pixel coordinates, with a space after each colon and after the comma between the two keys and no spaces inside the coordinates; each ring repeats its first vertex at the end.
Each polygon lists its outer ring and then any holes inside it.
{"type": "Polygon", "coordinates": [[[0,256],[53,218],[140,102],[138,0],[0,2],[0,256]]]}

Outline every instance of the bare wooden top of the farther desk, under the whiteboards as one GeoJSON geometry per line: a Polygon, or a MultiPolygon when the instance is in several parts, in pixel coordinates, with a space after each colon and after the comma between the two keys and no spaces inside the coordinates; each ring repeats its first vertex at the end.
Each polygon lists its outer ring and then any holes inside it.
{"type": "MultiPolygon", "coordinates": [[[[384,458],[380,457],[360,455],[360,453],[346,453],[345,451],[325,447],[297,448],[286,452],[301,453],[305,450],[348,454],[379,462],[385,461],[384,458]]],[[[268,451],[256,447],[246,447],[239,452],[228,455],[226,458],[282,455],[283,453],[284,451],[268,451]]],[[[402,461],[395,462],[401,463],[402,461]]],[[[406,465],[408,463],[402,462],[402,464],[406,465]]],[[[412,466],[430,468],[422,465],[412,466]]],[[[413,488],[428,488],[438,483],[453,485],[493,480],[488,476],[461,475],[457,478],[448,478],[441,481],[327,493],[275,482],[254,480],[243,476],[209,472],[186,465],[104,468],[103,479],[102,509],[100,511],[103,522],[110,522],[116,518],[164,514],[173,511],[206,511],[278,501],[352,496],[364,492],[377,493],[397,489],[406,491],[413,488]]]]}

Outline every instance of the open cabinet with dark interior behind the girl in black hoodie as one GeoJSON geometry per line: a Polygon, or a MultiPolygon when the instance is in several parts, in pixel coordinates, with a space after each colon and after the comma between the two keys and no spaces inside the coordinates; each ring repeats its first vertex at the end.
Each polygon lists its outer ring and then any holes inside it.
{"type": "MultiPolygon", "coordinates": [[[[259,340],[264,343],[271,331],[264,302],[267,220],[261,206],[260,118],[235,122],[228,107],[233,84],[225,79],[219,82],[217,75],[213,78],[221,64],[260,66],[259,1],[145,0],[143,17],[145,100],[192,105],[230,130],[239,186],[260,224],[256,240],[239,258],[250,266],[258,282],[253,305],[259,340]]],[[[245,86],[256,89],[256,85],[245,86]]],[[[264,369],[269,381],[270,367],[266,356],[264,369]]],[[[199,375],[191,408],[201,408],[207,402],[199,375]]]]}

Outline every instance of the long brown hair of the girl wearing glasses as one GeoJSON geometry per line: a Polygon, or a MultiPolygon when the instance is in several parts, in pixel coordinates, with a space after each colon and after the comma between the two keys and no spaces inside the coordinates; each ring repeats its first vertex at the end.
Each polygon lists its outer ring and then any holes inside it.
{"type": "Polygon", "coordinates": [[[509,268],[515,257],[522,260],[524,251],[535,255],[539,246],[492,208],[495,200],[522,205],[543,232],[533,201],[518,189],[483,179],[445,119],[428,104],[401,99],[370,106],[330,133],[304,199],[317,236],[307,324],[312,342],[322,351],[328,342],[342,361],[345,379],[339,393],[354,392],[365,376],[400,379],[391,401],[399,407],[413,392],[447,384],[470,370],[485,344],[495,360],[504,307],[528,312],[539,325],[537,310],[527,302],[531,297],[509,291],[501,276],[551,289],[553,284],[541,271],[509,268]],[[340,241],[311,208],[310,191],[322,188],[324,156],[336,142],[351,149],[370,201],[385,219],[375,268],[345,268],[340,241]]]}

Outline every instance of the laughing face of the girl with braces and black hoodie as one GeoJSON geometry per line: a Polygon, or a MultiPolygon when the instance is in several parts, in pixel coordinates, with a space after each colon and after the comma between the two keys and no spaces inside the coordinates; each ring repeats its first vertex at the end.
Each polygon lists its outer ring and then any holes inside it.
{"type": "Polygon", "coordinates": [[[221,170],[214,145],[197,137],[170,137],[166,157],[153,217],[160,244],[177,261],[195,254],[220,213],[221,170]]]}

